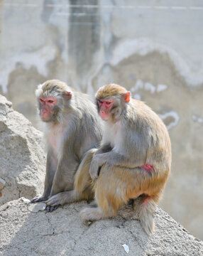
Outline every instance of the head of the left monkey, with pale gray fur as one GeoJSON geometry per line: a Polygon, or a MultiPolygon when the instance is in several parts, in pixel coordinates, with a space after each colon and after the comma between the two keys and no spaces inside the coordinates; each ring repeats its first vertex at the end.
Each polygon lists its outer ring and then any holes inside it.
{"type": "Polygon", "coordinates": [[[48,80],[35,90],[41,119],[44,122],[60,122],[60,113],[72,98],[72,91],[59,80],[48,80]]]}

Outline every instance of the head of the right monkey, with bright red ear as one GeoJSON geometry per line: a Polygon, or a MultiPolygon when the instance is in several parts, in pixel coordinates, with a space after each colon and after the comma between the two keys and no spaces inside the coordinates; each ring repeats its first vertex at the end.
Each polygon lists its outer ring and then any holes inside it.
{"type": "Polygon", "coordinates": [[[104,121],[119,119],[124,107],[130,102],[130,92],[113,83],[100,87],[95,97],[99,115],[104,121]]]}

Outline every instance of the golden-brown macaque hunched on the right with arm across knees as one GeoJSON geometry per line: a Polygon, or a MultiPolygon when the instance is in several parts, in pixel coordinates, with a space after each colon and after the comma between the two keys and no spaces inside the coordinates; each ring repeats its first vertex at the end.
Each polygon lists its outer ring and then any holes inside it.
{"type": "MultiPolygon", "coordinates": [[[[112,217],[133,199],[143,230],[153,233],[154,211],[170,174],[168,131],[150,107],[132,99],[120,85],[104,85],[96,99],[99,115],[105,121],[101,147],[92,152],[89,163],[97,206],[84,208],[80,218],[92,221],[112,217]]],[[[85,187],[80,171],[76,191],[85,187]]],[[[87,170],[86,178],[89,182],[87,170]]]]}

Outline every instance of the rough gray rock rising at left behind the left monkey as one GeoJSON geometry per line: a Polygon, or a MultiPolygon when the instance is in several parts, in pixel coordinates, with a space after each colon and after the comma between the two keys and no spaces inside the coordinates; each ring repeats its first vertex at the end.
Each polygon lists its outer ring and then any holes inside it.
{"type": "Polygon", "coordinates": [[[0,95],[0,206],[42,193],[45,176],[43,134],[11,106],[0,95]]]}

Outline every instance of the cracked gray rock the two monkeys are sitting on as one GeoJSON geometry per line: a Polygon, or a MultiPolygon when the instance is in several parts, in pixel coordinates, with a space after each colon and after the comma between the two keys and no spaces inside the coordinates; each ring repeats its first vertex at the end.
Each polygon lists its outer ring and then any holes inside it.
{"type": "Polygon", "coordinates": [[[203,255],[203,242],[160,208],[155,233],[148,236],[138,220],[131,220],[129,208],[85,225],[78,213],[86,205],[72,203],[46,213],[43,203],[25,198],[6,203],[0,208],[0,255],[203,255]]]}

